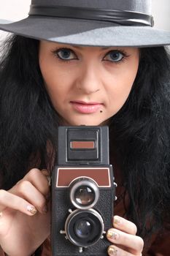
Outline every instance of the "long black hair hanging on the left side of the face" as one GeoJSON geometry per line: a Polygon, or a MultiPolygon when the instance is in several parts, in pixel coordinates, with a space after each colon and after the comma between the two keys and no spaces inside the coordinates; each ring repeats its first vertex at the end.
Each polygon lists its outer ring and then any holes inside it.
{"type": "Polygon", "coordinates": [[[9,189],[31,167],[47,167],[47,141],[55,143],[58,118],[39,69],[39,41],[12,36],[2,51],[0,169],[1,187],[9,189]]]}

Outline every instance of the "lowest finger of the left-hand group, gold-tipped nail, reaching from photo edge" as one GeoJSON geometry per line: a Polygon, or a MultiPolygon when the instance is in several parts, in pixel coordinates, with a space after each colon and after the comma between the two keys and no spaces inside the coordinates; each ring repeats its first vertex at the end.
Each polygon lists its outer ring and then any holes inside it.
{"type": "Polygon", "coordinates": [[[35,215],[37,210],[35,206],[28,203],[26,200],[24,200],[21,197],[18,197],[17,195],[13,195],[4,189],[0,190],[0,211],[1,211],[1,217],[3,217],[3,211],[6,208],[11,208],[14,210],[18,210],[23,212],[27,215],[35,215]]]}

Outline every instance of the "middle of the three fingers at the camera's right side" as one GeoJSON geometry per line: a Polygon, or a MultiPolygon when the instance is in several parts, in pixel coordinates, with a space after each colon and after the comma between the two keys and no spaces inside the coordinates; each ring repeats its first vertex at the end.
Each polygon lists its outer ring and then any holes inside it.
{"type": "Polygon", "coordinates": [[[124,233],[123,231],[111,228],[107,231],[107,238],[114,244],[120,244],[128,248],[128,252],[139,255],[142,252],[144,241],[139,236],[124,233]]]}

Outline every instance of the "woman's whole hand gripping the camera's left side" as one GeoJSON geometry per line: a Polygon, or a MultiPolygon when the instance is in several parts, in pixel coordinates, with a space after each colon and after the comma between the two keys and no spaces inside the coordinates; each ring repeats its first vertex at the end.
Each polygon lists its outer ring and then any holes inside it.
{"type": "Polygon", "coordinates": [[[9,191],[0,190],[0,245],[10,256],[29,256],[50,235],[47,170],[30,170],[9,191]]]}

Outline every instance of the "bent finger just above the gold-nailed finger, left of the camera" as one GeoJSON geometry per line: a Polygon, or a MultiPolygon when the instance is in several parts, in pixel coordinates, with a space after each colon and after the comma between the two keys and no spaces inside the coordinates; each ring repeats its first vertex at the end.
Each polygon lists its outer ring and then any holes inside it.
{"type": "Polygon", "coordinates": [[[47,213],[47,200],[30,181],[20,181],[14,188],[13,193],[24,198],[34,205],[41,213],[47,213]]]}

